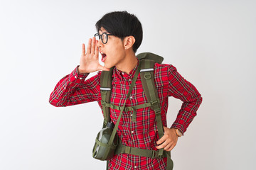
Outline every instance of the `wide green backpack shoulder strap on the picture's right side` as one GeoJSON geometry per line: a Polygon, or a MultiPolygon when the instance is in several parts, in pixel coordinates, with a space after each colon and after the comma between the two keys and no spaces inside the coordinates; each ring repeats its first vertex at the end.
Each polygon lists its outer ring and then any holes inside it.
{"type": "MultiPolygon", "coordinates": [[[[154,82],[154,61],[153,60],[141,60],[142,67],[140,70],[142,86],[146,95],[146,100],[151,103],[151,109],[156,113],[156,125],[159,132],[159,139],[164,136],[164,128],[161,120],[161,106],[159,103],[159,96],[156,92],[156,86],[154,82]]],[[[164,149],[159,150],[159,156],[162,155],[164,149]]]]}

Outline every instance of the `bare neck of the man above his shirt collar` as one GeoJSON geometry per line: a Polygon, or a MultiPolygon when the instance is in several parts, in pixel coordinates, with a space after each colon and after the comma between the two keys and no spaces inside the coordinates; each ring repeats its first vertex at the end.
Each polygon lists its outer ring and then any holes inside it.
{"type": "Polygon", "coordinates": [[[137,65],[137,57],[134,54],[134,52],[126,54],[124,57],[124,60],[122,62],[119,62],[119,64],[116,65],[117,69],[119,69],[121,72],[126,72],[129,74],[129,72],[134,69],[137,65]]]}

